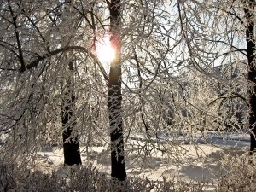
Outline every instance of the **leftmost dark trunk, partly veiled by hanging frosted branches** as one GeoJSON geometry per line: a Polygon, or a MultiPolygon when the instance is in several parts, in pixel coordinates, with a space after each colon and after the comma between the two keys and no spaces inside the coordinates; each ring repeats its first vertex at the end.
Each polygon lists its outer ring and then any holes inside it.
{"type": "Polygon", "coordinates": [[[82,164],[79,139],[77,133],[74,131],[76,125],[75,118],[73,118],[73,108],[75,104],[75,95],[73,88],[73,62],[69,62],[68,69],[71,71],[71,77],[67,79],[67,90],[63,98],[61,107],[61,121],[62,121],[62,138],[64,151],[64,164],[68,166],[82,164]]]}

